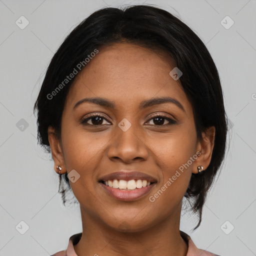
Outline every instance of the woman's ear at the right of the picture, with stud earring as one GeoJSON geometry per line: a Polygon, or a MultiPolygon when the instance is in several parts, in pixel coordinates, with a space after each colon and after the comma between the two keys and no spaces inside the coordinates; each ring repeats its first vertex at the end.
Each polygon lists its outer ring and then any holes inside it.
{"type": "Polygon", "coordinates": [[[192,173],[198,173],[198,165],[203,166],[203,171],[209,166],[214,146],[214,138],[214,126],[210,126],[202,132],[202,141],[198,141],[196,146],[196,150],[199,151],[201,154],[198,154],[198,157],[196,158],[196,160],[194,160],[192,173]]]}

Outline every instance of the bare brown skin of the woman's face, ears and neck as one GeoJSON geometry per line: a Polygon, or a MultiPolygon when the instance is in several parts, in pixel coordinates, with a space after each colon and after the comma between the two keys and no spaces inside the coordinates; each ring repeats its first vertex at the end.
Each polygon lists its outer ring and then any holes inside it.
{"type": "MultiPolygon", "coordinates": [[[[80,178],[70,182],[80,203],[82,237],[74,245],[78,256],[85,255],[180,255],[187,244],[179,234],[182,197],[197,166],[204,170],[210,162],[214,127],[196,137],[192,106],[169,72],[175,65],[166,53],[134,44],[116,43],[99,53],[76,76],[68,92],[61,122],[61,140],[49,126],[48,138],[55,171],[75,169],[80,178]],[[104,97],[114,109],[93,103],[74,104],[85,97],[104,97]],[[139,103],[152,97],[170,96],[174,103],[139,109],[139,103]],[[80,120],[89,113],[103,116],[80,120]],[[153,115],[165,115],[159,123],[153,115]],[[131,127],[125,132],[118,123],[126,118],[131,127]],[[93,124],[94,123],[94,126],[93,124]],[[89,125],[91,124],[91,125],[89,125]],[[169,124],[169,125],[168,125],[169,124]],[[201,154],[154,201],[153,195],[171,178],[180,165],[197,151],[201,154]],[[108,195],[98,179],[120,169],[137,170],[153,176],[157,183],[149,194],[134,201],[120,201],[108,195]]],[[[207,170],[205,170],[207,171],[207,170]]]]}

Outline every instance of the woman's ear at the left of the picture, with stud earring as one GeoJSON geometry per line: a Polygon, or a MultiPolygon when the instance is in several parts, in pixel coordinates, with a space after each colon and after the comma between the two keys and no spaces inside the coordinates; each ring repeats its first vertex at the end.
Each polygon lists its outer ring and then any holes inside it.
{"type": "Polygon", "coordinates": [[[52,126],[48,126],[48,140],[50,144],[51,156],[54,161],[54,170],[58,173],[57,166],[61,166],[60,173],[66,171],[65,162],[62,152],[61,142],[56,136],[55,129],[52,126]]]}

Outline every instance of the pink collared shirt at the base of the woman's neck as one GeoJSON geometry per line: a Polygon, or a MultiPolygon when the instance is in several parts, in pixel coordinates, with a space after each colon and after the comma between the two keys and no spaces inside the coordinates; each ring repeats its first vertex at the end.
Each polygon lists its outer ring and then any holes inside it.
{"type": "MultiPolygon", "coordinates": [[[[82,233],[73,234],[69,237],[68,245],[66,250],[61,250],[59,252],[54,253],[51,256],[77,256],[77,254],[74,251],[73,245],[77,244],[78,241],[81,238],[82,233]]],[[[186,253],[186,256],[220,256],[217,254],[214,254],[212,252],[198,249],[195,244],[193,243],[192,239],[188,234],[186,234],[183,231],[180,231],[181,237],[187,242],[188,250],[186,253]]]]}

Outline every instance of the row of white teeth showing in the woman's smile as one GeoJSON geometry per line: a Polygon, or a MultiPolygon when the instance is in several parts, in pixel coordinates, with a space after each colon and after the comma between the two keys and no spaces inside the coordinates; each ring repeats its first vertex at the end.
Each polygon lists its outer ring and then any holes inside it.
{"type": "Polygon", "coordinates": [[[150,181],[147,181],[145,179],[131,179],[131,180],[123,180],[123,179],[114,179],[114,180],[107,180],[104,182],[105,185],[113,187],[113,188],[119,188],[124,190],[133,190],[136,188],[146,187],[150,185],[150,181]]]}

